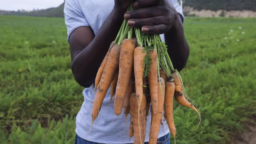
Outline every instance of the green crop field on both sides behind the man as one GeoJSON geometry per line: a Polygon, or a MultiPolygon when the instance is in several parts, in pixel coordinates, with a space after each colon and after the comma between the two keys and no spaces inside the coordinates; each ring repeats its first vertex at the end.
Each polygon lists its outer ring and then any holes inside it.
{"type": "MultiPolygon", "coordinates": [[[[197,114],[176,104],[179,144],[222,144],[256,115],[256,18],[186,18],[181,72],[197,114]]],[[[0,16],[0,142],[74,143],[84,100],[63,18],[0,16]]],[[[173,139],[172,139],[173,142],[173,139]]]]}

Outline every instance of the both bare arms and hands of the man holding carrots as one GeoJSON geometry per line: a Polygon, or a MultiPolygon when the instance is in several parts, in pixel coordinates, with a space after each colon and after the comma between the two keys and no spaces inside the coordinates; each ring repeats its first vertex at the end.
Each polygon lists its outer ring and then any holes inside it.
{"type": "Polygon", "coordinates": [[[135,0],[133,12],[126,12],[132,0],[115,0],[115,6],[96,36],[89,26],[76,28],[70,35],[71,69],[76,81],[90,87],[110,43],[116,38],[125,18],[128,25],[139,27],[148,34],[165,34],[168,54],[174,68],[182,70],[188,60],[189,46],[184,37],[183,25],[175,8],[163,0],[135,0]]]}

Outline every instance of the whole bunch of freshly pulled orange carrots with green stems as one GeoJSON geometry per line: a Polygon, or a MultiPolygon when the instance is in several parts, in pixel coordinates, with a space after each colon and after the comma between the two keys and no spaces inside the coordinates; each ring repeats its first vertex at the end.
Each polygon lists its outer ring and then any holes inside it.
{"type": "MultiPolygon", "coordinates": [[[[128,8],[130,10],[133,10],[132,6],[128,8]]],[[[129,27],[126,20],[98,69],[95,88],[92,124],[110,88],[115,114],[119,116],[124,107],[125,116],[131,115],[129,136],[134,136],[134,144],[144,143],[146,118],[150,111],[149,144],[157,143],[163,116],[175,138],[174,99],[196,111],[200,119],[198,106],[186,95],[182,78],[173,68],[160,35],[143,34],[139,28],[129,27]],[[136,38],[132,38],[134,33],[136,38]]]]}

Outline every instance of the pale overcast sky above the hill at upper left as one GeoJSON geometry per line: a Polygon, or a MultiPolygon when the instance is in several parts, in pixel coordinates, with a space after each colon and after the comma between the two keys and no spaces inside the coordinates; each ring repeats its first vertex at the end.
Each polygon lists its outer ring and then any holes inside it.
{"type": "Polygon", "coordinates": [[[0,10],[33,10],[58,7],[64,0],[0,0],[0,10]]]}

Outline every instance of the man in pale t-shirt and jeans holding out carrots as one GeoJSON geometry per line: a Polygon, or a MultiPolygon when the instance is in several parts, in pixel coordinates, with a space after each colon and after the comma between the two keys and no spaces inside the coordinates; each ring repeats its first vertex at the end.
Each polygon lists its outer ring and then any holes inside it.
{"type": "MultiPolygon", "coordinates": [[[[184,16],[182,6],[177,0],[134,0],[133,6],[136,10],[126,12],[131,2],[132,0],[66,0],[65,2],[64,13],[72,58],[71,68],[76,81],[85,87],[84,102],[76,116],[77,144],[129,143],[130,116],[126,122],[122,112],[122,115],[112,122],[116,115],[114,102],[107,106],[110,100],[109,91],[89,133],[96,73],[124,18],[128,20],[129,26],[139,27],[144,33],[164,34],[161,35],[162,39],[166,41],[168,53],[176,69],[182,70],[188,60],[189,46],[182,25],[184,16]]],[[[149,128],[150,118],[146,128],[146,142],[149,140],[149,128]]],[[[170,143],[170,132],[166,122],[160,128],[158,138],[159,144],[170,143]]],[[[133,142],[133,138],[130,142],[133,142]]]]}

